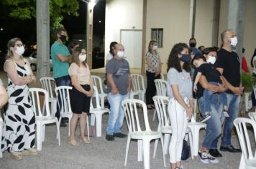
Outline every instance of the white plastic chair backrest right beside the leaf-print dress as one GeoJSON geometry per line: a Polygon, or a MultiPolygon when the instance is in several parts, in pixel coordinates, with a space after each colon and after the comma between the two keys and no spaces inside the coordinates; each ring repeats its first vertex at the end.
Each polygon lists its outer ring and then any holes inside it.
{"type": "Polygon", "coordinates": [[[50,116],[48,92],[41,88],[29,88],[29,95],[32,100],[32,107],[35,115],[38,117],[50,116]],[[43,104],[45,104],[46,114],[42,113],[43,104]]]}

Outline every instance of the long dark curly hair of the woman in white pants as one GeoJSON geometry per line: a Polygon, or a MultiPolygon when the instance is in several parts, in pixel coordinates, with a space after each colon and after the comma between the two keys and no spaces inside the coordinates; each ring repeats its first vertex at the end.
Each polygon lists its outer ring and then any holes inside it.
{"type": "Polygon", "coordinates": [[[167,63],[167,72],[171,67],[175,68],[178,72],[182,72],[182,68],[186,70],[186,72],[189,72],[191,70],[191,67],[189,66],[189,63],[183,64],[183,67],[180,66],[180,59],[178,58],[178,54],[183,51],[183,49],[187,48],[188,45],[185,43],[178,43],[173,46],[173,49],[171,49],[168,63],[167,63]]]}

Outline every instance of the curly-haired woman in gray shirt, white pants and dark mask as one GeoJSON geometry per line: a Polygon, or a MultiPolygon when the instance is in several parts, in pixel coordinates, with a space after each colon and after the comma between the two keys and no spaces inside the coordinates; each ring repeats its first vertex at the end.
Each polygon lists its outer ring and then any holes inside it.
{"type": "Polygon", "coordinates": [[[180,164],[183,139],[193,110],[190,60],[187,44],[173,46],[168,58],[167,74],[167,92],[170,97],[168,113],[173,131],[169,146],[171,169],[183,168],[180,164]]]}

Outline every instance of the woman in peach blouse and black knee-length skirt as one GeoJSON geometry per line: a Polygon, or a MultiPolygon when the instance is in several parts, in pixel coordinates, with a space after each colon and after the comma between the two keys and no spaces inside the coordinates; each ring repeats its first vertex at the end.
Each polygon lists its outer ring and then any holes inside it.
{"type": "Polygon", "coordinates": [[[90,112],[91,95],[93,93],[93,81],[91,79],[88,64],[86,64],[86,49],[76,47],[72,53],[74,62],[70,65],[68,73],[71,77],[73,89],[70,95],[70,104],[73,116],[70,120],[69,144],[78,146],[75,139],[76,125],[80,118],[80,138],[83,143],[91,143],[85,137],[86,117],[90,112]]]}

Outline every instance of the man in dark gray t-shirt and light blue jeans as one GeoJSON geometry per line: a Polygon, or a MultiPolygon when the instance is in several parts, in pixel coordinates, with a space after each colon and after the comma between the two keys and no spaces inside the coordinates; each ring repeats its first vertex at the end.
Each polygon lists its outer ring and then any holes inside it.
{"type": "Polygon", "coordinates": [[[127,137],[121,132],[124,121],[122,101],[128,98],[131,90],[129,63],[124,59],[122,44],[114,45],[114,57],[106,64],[107,92],[110,105],[109,120],[106,127],[106,140],[114,137],[127,137]]]}

